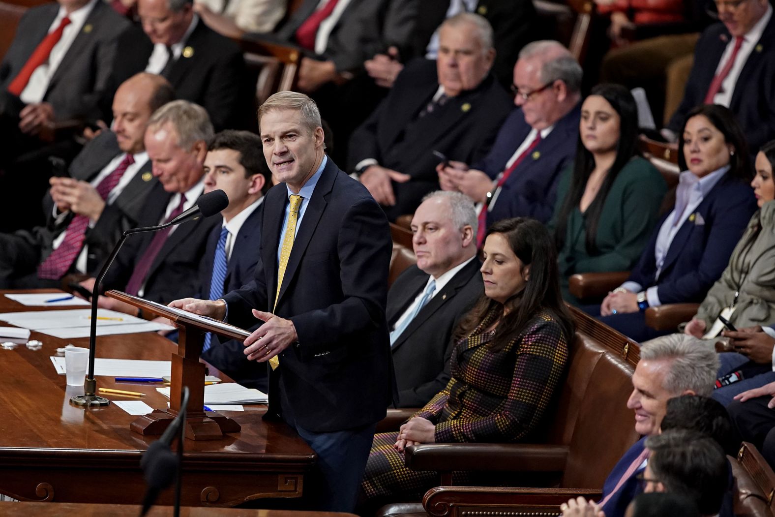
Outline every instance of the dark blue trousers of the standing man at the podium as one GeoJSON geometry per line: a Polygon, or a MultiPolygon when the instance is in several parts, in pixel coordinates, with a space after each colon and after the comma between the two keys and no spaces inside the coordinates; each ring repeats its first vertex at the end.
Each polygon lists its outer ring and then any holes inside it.
{"type": "Polygon", "coordinates": [[[283,419],[318,455],[312,482],[307,484],[312,490],[305,490],[309,509],[353,512],[377,424],[332,433],[309,431],[296,423],[282,383],[273,383],[272,386],[279,386],[283,419]]]}

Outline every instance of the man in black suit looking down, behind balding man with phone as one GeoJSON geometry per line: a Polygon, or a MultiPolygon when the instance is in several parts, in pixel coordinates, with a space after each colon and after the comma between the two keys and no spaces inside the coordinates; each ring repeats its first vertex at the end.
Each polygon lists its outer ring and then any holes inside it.
{"type": "Polygon", "coordinates": [[[245,61],[236,43],[210,29],[190,0],[139,0],[143,31],[119,37],[113,81],[140,71],[163,75],[177,97],[204,107],[215,130],[255,126],[245,61]]]}

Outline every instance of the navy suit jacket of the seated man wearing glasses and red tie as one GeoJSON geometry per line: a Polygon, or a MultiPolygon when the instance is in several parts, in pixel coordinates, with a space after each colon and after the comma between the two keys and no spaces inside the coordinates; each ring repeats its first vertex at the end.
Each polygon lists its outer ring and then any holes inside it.
{"type": "MultiPolygon", "coordinates": [[[[580,113],[580,105],[577,105],[558,120],[552,132],[512,172],[492,209],[487,212],[487,226],[501,219],[522,216],[549,222],[557,198],[557,184],[562,172],[573,164],[580,113]]],[[[522,109],[513,110],[501,126],[490,153],[472,168],[484,171],[494,180],[506,168],[508,159],[531,129],[522,109]]]]}

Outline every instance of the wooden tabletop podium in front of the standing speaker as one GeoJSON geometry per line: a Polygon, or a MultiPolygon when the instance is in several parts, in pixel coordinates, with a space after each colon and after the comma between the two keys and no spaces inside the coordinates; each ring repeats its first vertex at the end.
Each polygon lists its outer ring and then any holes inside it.
{"type": "Polygon", "coordinates": [[[177,353],[172,354],[172,377],[170,386],[170,408],[154,409],[148,415],[138,417],[129,426],[135,433],[156,436],[164,433],[181,408],[183,386],[188,386],[185,436],[189,439],[222,439],[224,433],[239,433],[239,424],[217,412],[205,412],[205,365],[199,362],[205,333],[245,339],[250,336],[246,330],[226,323],[209,323],[188,316],[174,309],[143,300],[122,291],[108,291],[105,295],[129,305],[134,305],[151,314],[171,319],[178,328],[177,353]]]}

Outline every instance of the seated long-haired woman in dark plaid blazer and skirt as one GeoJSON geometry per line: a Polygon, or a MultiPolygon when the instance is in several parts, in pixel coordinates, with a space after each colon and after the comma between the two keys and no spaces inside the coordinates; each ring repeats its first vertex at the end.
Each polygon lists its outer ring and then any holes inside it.
{"type": "Polygon", "coordinates": [[[452,378],[399,433],[374,436],[362,484],[370,502],[420,496],[438,481],[404,466],[406,446],[515,442],[536,429],[565,373],[573,336],[556,264],[553,240],[535,219],[504,219],[487,230],[484,295],[456,330],[452,378]]]}

